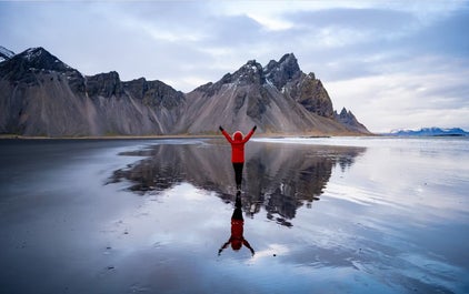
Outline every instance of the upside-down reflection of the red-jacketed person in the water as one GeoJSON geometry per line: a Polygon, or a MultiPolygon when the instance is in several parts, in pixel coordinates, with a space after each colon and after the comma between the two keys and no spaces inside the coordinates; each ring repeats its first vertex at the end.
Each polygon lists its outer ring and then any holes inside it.
{"type": "Polygon", "coordinates": [[[242,211],[241,211],[241,192],[238,191],[236,194],[236,203],[234,203],[234,211],[233,215],[231,216],[231,236],[228,239],[228,241],[218,250],[218,255],[221,254],[221,252],[228,247],[229,244],[231,244],[231,249],[234,251],[239,251],[242,245],[247,246],[251,254],[255,255],[255,250],[251,247],[249,242],[243,236],[243,226],[245,226],[245,220],[242,217],[242,211]]]}

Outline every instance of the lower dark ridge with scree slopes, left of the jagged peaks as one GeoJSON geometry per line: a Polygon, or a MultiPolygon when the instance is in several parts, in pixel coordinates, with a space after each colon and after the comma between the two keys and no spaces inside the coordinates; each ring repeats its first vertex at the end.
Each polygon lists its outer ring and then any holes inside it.
{"type": "Polygon", "coordinates": [[[46,136],[164,134],[182,92],[159,81],[84,77],[43,48],[0,63],[0,133],[46,136]]]}

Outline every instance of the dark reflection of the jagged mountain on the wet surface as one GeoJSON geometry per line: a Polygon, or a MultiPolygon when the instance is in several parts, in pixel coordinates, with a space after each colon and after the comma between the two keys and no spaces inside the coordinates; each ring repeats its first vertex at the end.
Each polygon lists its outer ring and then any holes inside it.
{"type": "MultiPolygon", "coordinates": [[[[291,226],[288,220],[295,217],[298,207],[303,204],[310,207],[319,200],[332,170],[346,172],[365,151],[365,148],[250,142],[242,181],[243,211],[253,216],[265,207],[268,219],[291,226]]],[[[121,155],[146,156],[113,172],[111,181],[130,181],[131,191],[159,192],[189,182],[216,192],[226,202],[233,201],[230,146],[223,141],[157,144],[121,155]]]]}

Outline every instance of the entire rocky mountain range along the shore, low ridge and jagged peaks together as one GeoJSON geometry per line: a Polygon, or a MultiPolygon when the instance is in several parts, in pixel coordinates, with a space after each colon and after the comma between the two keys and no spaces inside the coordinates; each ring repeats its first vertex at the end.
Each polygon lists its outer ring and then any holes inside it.
{"type": "Polygon", "coordinates": [[[265,133],[369,134],[346,114],[337,115],[321,81],[305,74],[292,53],[265,68],[248,61],[187,94],[161,81],[121,81],[114,71],[83,75],[43,48],[0,62],[0,133],[7,134],[203,134],[255,124],[265,133]]]}

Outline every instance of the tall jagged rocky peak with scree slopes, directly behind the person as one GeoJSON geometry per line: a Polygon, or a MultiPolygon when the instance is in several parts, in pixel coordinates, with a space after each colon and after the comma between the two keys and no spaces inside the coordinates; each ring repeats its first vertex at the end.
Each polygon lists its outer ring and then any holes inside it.
{"type": "MultiPolygon", "coordinates": [[[[332,102],[313,73],[303,73],[290,53],[262,67],[248,61],[234,73],[188,93],[179,133],[211,133],[218,125],[265,133],[350,134],[369,131],[336,119],[332,102]]],[[[355,116],[353,116],[355,118],[355,116]]]]}

